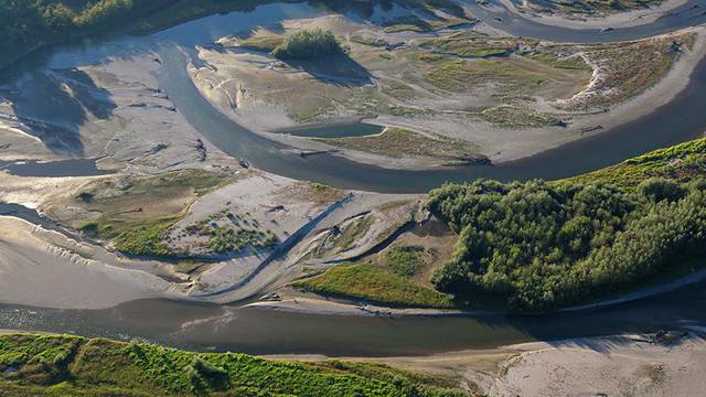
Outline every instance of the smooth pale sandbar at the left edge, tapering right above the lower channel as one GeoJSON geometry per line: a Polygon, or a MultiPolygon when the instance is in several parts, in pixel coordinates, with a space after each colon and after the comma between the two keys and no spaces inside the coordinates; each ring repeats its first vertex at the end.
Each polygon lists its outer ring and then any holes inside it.
{"type": "Polygon", "coordinates": [[[0,217],[0,302],[99,309],[175,294],[175,286],[157,276],[109,266],[47,239],[79,245],[28,222],[0,217]]]}

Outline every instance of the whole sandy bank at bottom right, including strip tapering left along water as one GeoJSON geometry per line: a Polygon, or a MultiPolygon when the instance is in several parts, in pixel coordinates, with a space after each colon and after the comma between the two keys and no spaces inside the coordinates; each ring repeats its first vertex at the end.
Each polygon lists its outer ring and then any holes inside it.
{"type": "MultiPolygon", "coordinates": [[[[651,335],[624,334],[532,342],[432,354],[424,357],[356,358],[408,371],[459,379],[481,395],[695,396],[706,385],[706,342],[696,334],[665,343],[651,335]],[[668,391],[667,391],[668,390],[668,391]]],[[[270,358],[319,361],[320,355],[275,355],[270,358]]]]}

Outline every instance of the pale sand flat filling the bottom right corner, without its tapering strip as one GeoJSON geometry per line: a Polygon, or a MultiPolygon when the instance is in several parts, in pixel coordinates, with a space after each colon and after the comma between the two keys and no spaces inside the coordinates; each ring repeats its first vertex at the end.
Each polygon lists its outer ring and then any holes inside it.
{"type": "Polygon", "coordinates": [[[630,337],[580,339],[511,346],[491,396],[703,396],[706,343],[676,346],[630,337]]]}

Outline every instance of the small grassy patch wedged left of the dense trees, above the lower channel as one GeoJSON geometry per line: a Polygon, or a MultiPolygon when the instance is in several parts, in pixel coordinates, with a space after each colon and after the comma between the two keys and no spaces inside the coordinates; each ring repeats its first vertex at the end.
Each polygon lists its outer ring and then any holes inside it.
{"type": "Polygon", "coordinates": [[[325,296],[417,308],[452,308],[449,296],[373,265],[339,265],[323,275],[296,281],[295,288],[325,296]]]}

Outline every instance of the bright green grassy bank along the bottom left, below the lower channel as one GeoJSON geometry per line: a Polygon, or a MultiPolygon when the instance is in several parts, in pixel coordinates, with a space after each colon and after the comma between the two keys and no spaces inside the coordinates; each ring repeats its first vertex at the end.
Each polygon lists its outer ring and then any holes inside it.
{"type": "Polygon", "coordinates": [[[0,395],[9,397],[464,395],[453,386],[376,364],[293,363],[103,339],[0,335],[0,395]]]}

